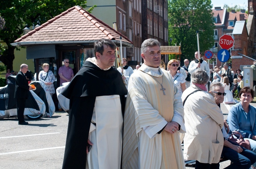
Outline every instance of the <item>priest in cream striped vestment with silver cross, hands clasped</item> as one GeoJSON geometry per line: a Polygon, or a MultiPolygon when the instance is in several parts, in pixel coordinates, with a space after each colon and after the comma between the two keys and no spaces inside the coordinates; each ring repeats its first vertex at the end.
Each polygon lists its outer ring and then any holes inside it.
{"type": "Polygon", "coordinates": [[[160,43],[142,43],[144,64],[130,78],[124,112],[122,168],[185,169],[179,134],[184,111],[170,74],[159,68],[160,43]]]}

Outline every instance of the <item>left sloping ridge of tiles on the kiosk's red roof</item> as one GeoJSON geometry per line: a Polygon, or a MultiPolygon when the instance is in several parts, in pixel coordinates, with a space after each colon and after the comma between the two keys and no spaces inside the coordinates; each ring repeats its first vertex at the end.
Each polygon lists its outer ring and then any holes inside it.
{"type": "Polygon", "coordinates": [[[60,15],[57,15],[55,17],[53,17],[52,19],[48,20],[47,22],[43,23],[42,25],[40,25],[39,27],[29,31],[27,34],[21,36],[19,39],[15,40],[14,42],[19,42],[21,41],[22,39],[25,39],[26,37],[32,35],[33,33],[35,33],[36,31],[38,31],[39,29],[47,26],[48,24],[52,23],[53,21],[55,21],[56,19],[59,19],[60,17],[66,15],[67,13],[69,13],[70,11],[72,11],[73,9],[75,9],[75,6],[67,9],[66,11],[62,12],[60,15]]]}

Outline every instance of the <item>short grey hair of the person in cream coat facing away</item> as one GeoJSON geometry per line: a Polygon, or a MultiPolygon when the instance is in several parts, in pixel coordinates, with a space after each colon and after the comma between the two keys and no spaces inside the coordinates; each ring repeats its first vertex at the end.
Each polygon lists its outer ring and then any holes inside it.
{"type": "Polygon", "coordinates": [[[205,70],[197,69],[192,75],[191,75],[191,81],[194,84],[199,85],[205,85],[209,82],[209,76],[205,72],[205,70]]]}

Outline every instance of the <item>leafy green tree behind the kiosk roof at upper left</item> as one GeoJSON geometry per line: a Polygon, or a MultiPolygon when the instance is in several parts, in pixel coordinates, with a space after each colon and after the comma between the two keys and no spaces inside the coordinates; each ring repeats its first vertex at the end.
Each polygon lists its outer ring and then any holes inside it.
{"type": "Polygon", "coordinates": [[[1,16],[5,19],[0,39],[8,46],[0,61],[10,70],[13,69],[14,50],[18,50],[11,43],[23,35],[24,25],[36,25],[37,21],[45,23],[75,5],[86,7],[85,0],[0,0],[0,4],[1,16]]]}

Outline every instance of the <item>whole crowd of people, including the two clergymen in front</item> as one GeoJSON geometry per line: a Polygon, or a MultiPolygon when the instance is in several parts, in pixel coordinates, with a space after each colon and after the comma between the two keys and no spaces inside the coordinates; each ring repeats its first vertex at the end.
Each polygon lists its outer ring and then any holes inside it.
{"type": "MultiPolygon", "coordinates": [[[[197,169],[217,169],[220,158],[228,168],[256,168],[256,108],[250,105],[254,90],[243,86],[243,76],[224,64],[210,70],[195,52],[195,60],[172,59],[161,66],[160,43],[147,39],[141,46],[144,63],[136,70],[114,68],[116,45],[107,39],[94,43],[88,58],[74,75],[69,59],[59,69],[60,85],[70,82],[62,95],[70,99],[69,124],[63,169],[147,168],[185,169],[185,160],[196,160],[197,169]],[[240,102],[224,119],[220,103],[240,102]],[[251,150],[230,141],[238,131],[250,141],[251,150]],[[85,141],[86,140],[86,141],[85,141]],[[181,148],[184,144],[184,151],[181,148]]],[[[256,64],[256,63],[255,63],[256,64]]],[[[38,79],[55,93],[55,76],[42,65],[38,79]]],[[[6,78],[13,72],[7,70],[6,78]]],[[[31,89],[28,66],[16,76],[18,124],[24,121],[24,102],[31,89]],[[26,77],[28,73],[28,77],[26,77]]]]}

